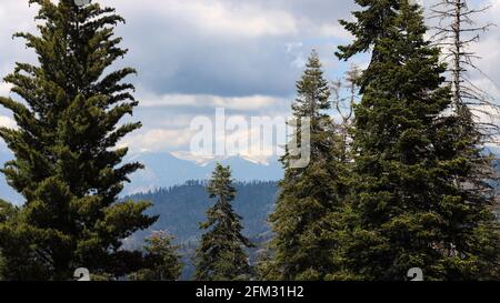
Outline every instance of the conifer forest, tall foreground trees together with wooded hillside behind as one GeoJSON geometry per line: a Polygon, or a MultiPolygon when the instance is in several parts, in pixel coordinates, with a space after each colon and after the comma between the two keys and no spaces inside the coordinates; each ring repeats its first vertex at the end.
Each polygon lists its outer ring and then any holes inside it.
{"type": "Polygon", "coordinates": [[[309,140],[287,147],[282,180],[239,182],[218,163],[123,196],[146,168],[120,142],[149,122],[133,120],[141,71],[119,63],[126,18],[29,0],[37,32],[14,38],[37,60],[16,62],[0,95],[16,122],[0,127],[13,154],[0,172],[23,201],[0,200],[0,281],[500,280],[500,107],[469,78],[488,55],[474,43],[498,30],[480,24],[488,7],[439,0],[432,22],[418,1],[349,1],[350,42],[331,57],[350,69],[329,79],[310,50],[289,102],[290,141],[309,140]]]}

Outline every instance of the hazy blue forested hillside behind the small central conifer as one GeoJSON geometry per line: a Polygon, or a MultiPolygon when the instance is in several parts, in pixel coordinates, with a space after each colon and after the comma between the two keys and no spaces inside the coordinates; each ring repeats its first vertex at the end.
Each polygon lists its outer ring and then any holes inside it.
{"type": "MultiPolygon", "coordinates": [[[[251,262],[258,261],[259,253],[271,239],[269,214],[274,210],[278,196],[277,182],[236,182],[238,192],[234,199],[234,210],[243,220],[243,234],[256,248],[249,250],[251,262]]],[[[174,235],[174,243],[182,254],[182,280],[190,280],[194,274],[193,255],[201,239],[200,223],[204,221],[206,211],[214,203],[207,196],[207,181],[190,181],[183,185],[158,189],[148,193],[134,194],[126,200],[151,201],[153,205],[148,210],[151,215],[159,215],[159,220],[146,231],[140,231],[128,239],[126,246],[137,249],[142,245],[152,231],[168,231],[174,235]]]]}

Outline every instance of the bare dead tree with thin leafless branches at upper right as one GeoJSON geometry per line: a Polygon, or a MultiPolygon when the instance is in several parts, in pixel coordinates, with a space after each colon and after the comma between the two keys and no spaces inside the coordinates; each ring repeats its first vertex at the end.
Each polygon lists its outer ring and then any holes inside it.
{"type": "Polygon", "coordinates": [[[481,34],[494,24],[479,24],[480,16],[490,6],[472,8],[470,0],[439,0],[431,7],[430,19],[436,20],[432,27],[432,40],[442,49],[443,60],[449,64],[452,88],[452,111],[463,119],[472,119],[482,143],[498,143],[500,127],[500,107],[490,93],[478,87],[470,79],[471,72],[486,74],[478,68],[479,54],[471,50],[479,42],[481,34]]]}

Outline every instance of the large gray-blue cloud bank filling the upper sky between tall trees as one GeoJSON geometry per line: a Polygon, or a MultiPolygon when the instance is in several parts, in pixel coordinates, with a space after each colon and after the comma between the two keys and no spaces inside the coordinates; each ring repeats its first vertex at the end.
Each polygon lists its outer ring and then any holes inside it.
{"type": "MultiPolygon", "coordinates": [[[[111,1],[102,1],[111,2],[111,1]]],[[[347,1],[120,1],[127,62],[157,93],[290,95],[300,68],[288,44],[332,58],[347,1]],[[160,4],[161,3],[161,4],[160,4]],[[226,20],[226,21],[224,21],[226,20]]],[[[302,53],[303,54],[303,53],[302,53]]]]}

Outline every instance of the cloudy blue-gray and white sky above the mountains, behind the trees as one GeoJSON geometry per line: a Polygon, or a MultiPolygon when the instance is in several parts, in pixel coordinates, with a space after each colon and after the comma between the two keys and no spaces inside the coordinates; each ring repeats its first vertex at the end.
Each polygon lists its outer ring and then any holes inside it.
{"type": "MultiPolygon", "coordinates": [[[[484,20],[500,24],[500,0],[491,1],[484,20]]],[[[186,151],[191,119],[211,117],[220,107],[228,115],[287,115],[294,81],[311,49],[319,51],[332,80],[348,65],[338,62],[333,51],[350,39],[338,24],[339,19],[350,18],[354,9],[350,0],[99,2],[116,7],[127,19],[117,33],[130,53],[117,67],[132,65],[139,71],[130,80],[141,100],[134,119],[144,127],[123,142],[133,153],[186,151]]],[[[31,51],[11,34],[34,31],[34,13],[28,0],[1,1],[1,78],[12,71],[13,62],[33,60],[31,51]]],[[[487,33],[477,50],[483,57],[480,65],[490,75],[490,80],[477,77],[477,81],[499,95],[494,88],[500,83],[500,29],[487,33]]],[[[364,60],[359,57],[354,63],[364,60]]],[[[0,94],[9,94],[4,83],[0,83],[0,94]]],[[[0,124],[13,125],[4,110],[0,110],[0,124]]]]}

